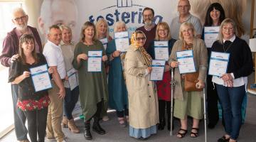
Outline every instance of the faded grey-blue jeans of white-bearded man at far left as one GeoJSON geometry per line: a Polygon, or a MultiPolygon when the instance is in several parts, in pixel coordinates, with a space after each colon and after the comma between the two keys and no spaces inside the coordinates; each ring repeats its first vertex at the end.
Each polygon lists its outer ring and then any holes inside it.
{"type": "Polygon", "coordinates": [[[18,102],[18,85],[17,84],[11,84],[11,95],[13,99],[13,106],[14,106],[14,129],[16,133],[16,138],[18,141],[26,140],[28,130],[26,129],[25,123],[26,123],[26,116],[21,111],[21,109],[18,109],[17,102],[18,102]]]}

